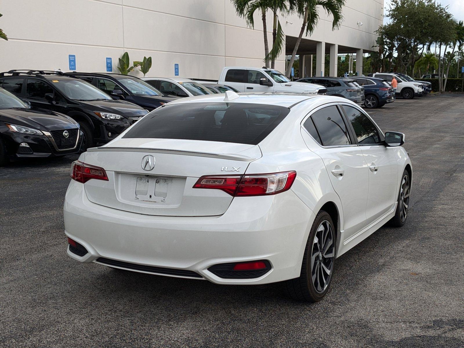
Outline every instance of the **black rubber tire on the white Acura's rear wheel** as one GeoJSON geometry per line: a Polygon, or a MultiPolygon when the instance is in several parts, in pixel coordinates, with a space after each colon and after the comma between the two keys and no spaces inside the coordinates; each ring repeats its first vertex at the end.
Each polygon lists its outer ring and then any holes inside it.
{"type": "MultiPolygon", "coordinates": [[[[317,302],[325,296],[327,291],[329,291],[335,264],[335,238],[336,231],[332,218],[330,218],[330,215],[327,212],[321,210],[317,213],[316,219],[314,219],[313,226],[311,227],[311,232],[309,232],[306,248],[304,249],[300,277],[290,279],[285,282],[285,290],[290,297],[298,301],[317,302]],[[320,231],[321,226],[327,225],[331,228],[331,241],[328,239],[330,237],[329,234],[325,234],[324,230],[322,230],[322,232],[320,231]],[[314,249],[314,245],[318,245],[318,242],[315,239],[317,236],[321,236],[321,233],[326,236],[327,239],[325,240],[328,244],[325,248],[326,251],[323,253],[314,249]],[[331,256],[329,258],[325,258],[322,254],[331,256]],[[311,256],[313,256],[312,262],[311,256]],[[325,269],[329,269],[330,272],[327,273],[323,267],[325,267],[325,269]],[[319,273],[319,271],[321,273],[319,273]],[[317,274],[314,280],[313,273],[317,274]],[[328,277],[326,282],[323,284],[324,286],[321,286],[321,279],[323,279],[324,273],[328,274],[328,277]],[[321,278],[319,276],[321,276],[321,278]],[[320,289],[317,289],[318,287],[320,287],[320,289]]],[[[318,250],[320,249],[324,249],[323,245],[318,250]]]]}

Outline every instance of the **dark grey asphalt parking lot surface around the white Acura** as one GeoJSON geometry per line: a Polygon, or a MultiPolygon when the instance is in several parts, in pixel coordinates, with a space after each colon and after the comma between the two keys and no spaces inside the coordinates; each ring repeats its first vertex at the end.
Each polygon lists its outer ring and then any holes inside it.
{"type": "Polygon", "coordinates": [[[322,302],[280,284],[220,286],[81,264],[62,206],[77,156],[0,168],[0,343],[5,347],[463,347],[464,95],[369,112],[406,134],[412,197],[336,260],[322,302]]]}

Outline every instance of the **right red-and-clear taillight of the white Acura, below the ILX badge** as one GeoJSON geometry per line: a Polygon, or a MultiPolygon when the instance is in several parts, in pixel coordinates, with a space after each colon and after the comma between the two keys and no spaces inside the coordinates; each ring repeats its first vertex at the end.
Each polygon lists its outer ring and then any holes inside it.
{"type": "Polygon", "coordinates": [[[222,190],[231,196],[266,196],[289,190],[295,178],[296,171],[243,176],[205,175],[193,188],[222,190]]]}

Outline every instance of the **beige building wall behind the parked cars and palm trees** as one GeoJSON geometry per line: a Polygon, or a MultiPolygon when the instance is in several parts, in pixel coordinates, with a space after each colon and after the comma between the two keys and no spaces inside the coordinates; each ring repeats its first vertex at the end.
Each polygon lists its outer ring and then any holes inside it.
{"type": "MultiPolygon", "coordinates": [[[[104,72],[111,57],[118,72],[125,51],[131,62],[152,57],[147,76],[174,76],[179,64],[180,77],[217,79],[227,65],[264,64],[260,16],[254,30],[247,28],[230,0],[2,0],[1,5],[1,28],[9,41],[0,41],[0,71],[69,71],[73,54],[77,71],[104,72]]],[[[382,13],[383,0],[347,0],[341,29],[332,32],[331,19],[322,14],[310,39],[370,50],[382,13]]],[[[298,35],[298,18],[281,23],[287,35],[298,35]]],[[[272,29],[271,13],[267,28],[272,29]]],[[[276,68],[284,71],[284,53],[276,68]]]]}

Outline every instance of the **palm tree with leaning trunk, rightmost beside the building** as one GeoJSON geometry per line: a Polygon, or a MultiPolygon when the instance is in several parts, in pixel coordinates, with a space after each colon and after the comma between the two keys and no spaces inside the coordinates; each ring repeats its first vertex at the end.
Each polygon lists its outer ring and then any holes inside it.
{"type": "Polygon", "coordinates": [[[303,19],[303,25],[301,26],[300,34],[296,39],[295,48],[290,58],[287,71],[285,75],[290,77],[291,67],[295,61],[296,52],[303,37],[303,32],[306,31],[306,36],[311,34],[316,29],[319,21],[319,9],[321,6],[328,14],[331,14],[334,18],[332,21],[332,30],[339,28],[343,20],[342,7],[345,5],[345,0],[291,0],[291,8],[295,9],[299,18],[303,19]]]}

